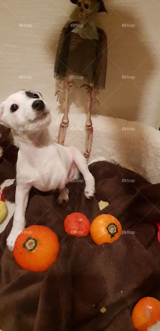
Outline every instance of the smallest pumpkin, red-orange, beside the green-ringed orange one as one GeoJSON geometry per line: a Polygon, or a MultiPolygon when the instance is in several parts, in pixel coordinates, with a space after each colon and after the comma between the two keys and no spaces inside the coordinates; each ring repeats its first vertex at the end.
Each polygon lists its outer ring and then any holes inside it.
{"type": "Polygon", "coordinates": [[[65,218],[64,227],[67,234],[82,237],[90,232],[90,222],[88,218],[81,213],[71,213],[65,218]]]}

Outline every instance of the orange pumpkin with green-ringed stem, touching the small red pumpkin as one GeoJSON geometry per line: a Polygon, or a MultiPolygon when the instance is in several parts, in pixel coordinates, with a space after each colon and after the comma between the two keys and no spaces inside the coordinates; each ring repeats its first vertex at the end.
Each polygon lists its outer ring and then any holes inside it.
{"type": "Polygon", "coordinates": [[[97,216],[90,228],[92,240],[96,245],[112,243],[122,234],[118,219],[112,215],[102,214],[97,216]]]}

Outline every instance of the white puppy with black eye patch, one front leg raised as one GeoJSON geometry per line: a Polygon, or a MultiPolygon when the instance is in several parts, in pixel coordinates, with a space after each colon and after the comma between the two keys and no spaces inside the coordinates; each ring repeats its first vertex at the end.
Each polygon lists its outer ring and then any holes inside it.
{"type": "Polygon", "coordinates": [[[13,250],[15,239],[25,227],[25,211],[32,186],[47,192],[60,189],[59,203],[68,202],[66,184],[83,174],[85,196],[94,195],[94,178],[83,155],[75,147],[53,143],[48,126],[50,111],[41,94],[20,91],[0,106],[0,122],[13,130],[19,147],[16,168],[15,213],[7,246],[13,250]],[[79,169],[79,171],[78,171],[79,169]]]}

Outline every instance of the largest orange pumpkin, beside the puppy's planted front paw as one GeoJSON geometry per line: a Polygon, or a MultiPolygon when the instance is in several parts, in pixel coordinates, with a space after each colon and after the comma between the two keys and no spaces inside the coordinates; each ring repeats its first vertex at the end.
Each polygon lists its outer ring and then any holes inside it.
{"type": "Polygon", "coordinates": [[[57,235],[46,226],[33,225],[17,237],[13,256],[23,269],[46,271],[57,259],[59,251],[57,235]]]}

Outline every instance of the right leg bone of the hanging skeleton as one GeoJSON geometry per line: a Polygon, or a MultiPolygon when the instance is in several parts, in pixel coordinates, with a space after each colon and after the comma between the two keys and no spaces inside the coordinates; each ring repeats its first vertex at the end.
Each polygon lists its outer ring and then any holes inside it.
{"type": "Polygon", "coordinates": [[[93,87],[90,85],[86,86],[88,90],[88,108],[87,108],[87,120],[86,120],[86,150],[84,152],[84,157],[87,160],[89,158],[91,147],[92,147],[92,140],[93,140],[93,126],[91,120],[91,101],[92,101],[92,90],[93,87]]]}

